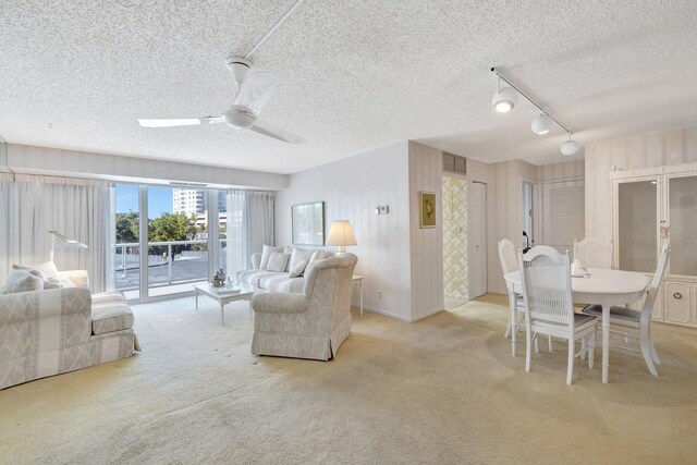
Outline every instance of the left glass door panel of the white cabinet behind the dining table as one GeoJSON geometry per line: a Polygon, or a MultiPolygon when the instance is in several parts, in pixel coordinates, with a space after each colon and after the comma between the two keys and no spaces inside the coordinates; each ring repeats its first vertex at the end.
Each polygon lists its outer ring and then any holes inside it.
{"type": "Polygon", "coordinates": [[[617,184],[619,268],[652,273],[657,266],[658,181],[617,184]]]}

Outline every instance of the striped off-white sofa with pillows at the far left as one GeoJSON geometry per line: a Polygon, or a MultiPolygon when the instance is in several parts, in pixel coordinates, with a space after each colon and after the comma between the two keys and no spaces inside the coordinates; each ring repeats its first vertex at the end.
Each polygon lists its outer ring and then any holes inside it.
{"type": "Polygon", "coordinates": [[[130,357],[139,350],[123,295],[91,295],[87,272],[58,277],[75,286],[8,294],[0,287],[0,389],[130,357]]]}

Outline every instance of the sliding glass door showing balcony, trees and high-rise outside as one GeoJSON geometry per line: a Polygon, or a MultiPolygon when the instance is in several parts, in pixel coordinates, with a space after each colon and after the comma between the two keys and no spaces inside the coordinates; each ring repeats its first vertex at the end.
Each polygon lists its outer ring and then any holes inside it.
{"type": "Polygon", "coordinates": [[[191,292],[224,268],[224,199],[212,189],[117,184],[117,290],[140,301],[191,292]]]}

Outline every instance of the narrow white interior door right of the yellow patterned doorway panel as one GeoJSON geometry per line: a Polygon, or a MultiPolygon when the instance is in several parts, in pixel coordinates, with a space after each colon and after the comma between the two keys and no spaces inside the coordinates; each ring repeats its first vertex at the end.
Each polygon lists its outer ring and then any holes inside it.
{"type": "Polygon", "coordinates": [[[487,293],[487,185],[472,183],[468,192],[467,245],[469,298],[487,293]]]}

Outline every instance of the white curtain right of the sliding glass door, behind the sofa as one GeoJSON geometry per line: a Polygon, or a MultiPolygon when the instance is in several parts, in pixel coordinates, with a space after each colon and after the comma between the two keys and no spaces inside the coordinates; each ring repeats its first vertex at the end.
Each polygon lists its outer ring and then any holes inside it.
{"type": "Polygon", "coordinates": [[[250,267],[252,254],[264,244],[273,244],[276,193],[228,191],[228,232],[225,272],[234,277],[250,267]]]}

